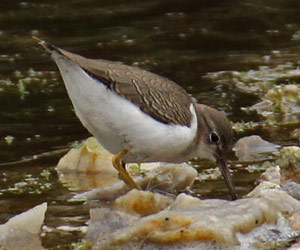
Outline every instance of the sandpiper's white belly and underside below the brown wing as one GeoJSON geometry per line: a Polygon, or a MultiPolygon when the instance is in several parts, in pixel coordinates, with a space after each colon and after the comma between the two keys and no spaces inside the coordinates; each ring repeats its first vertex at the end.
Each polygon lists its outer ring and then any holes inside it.
{"type": "Polygon", "coordinates": [[[53,52],[75,112],[83,125],[113,154],[124,148],[125,162],[178,162],[197,132],[194,106],[191,127],[166,125],[143,113],[139,107],[120,97],[90,77],[76,63],[53,52]]]}

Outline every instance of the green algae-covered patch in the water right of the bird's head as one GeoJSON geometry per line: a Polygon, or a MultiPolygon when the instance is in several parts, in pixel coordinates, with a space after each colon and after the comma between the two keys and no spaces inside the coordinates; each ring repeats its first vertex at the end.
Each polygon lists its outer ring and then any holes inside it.
{"type": "MultiPolygon", "coordinates": [[[[209,73],[205,78],[222,85],[233,85],[239,92],[258,97],[243,112],[255,110],[275,124],[299,123],[300,121],[300,70],[299,64],[287,63],[276,67],[260,66],[258,70],[221,71],[209,73]]],[[[249,125],[244,124],[249,129],[249,125]]],[[[237,126],[236,126],[237,127],[237,126]]],[[[239,126],[241,130],[241,126],[239,126]]]]}

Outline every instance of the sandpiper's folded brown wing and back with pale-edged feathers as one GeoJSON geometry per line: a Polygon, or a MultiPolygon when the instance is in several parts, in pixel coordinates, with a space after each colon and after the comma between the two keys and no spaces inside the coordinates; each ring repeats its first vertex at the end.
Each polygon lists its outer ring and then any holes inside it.
{"type": "Polygon", "coordinates": [[[92,77],[165,124],[190,126],[191,97],[176,83],[140,69],[106,60],[88,59],[51,44],[40,42],[47,51],[56,50],[78,63],[92,77]]]}

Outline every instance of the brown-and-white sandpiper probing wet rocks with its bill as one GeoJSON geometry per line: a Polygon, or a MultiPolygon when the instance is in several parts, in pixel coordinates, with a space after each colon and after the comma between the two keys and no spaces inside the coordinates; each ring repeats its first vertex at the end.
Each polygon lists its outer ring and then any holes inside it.
{"type": "Polygon", "coordinates": [[[236,199],[226,160],[232,128],[222,112],[195,103],[182,87],[154,73],[88,59],[34,39],[50,53],[76,115],[115,155],[113,166],[130,188],[140,189],[126,163],[203,158],[218,163],[231,198],[236,199]]]}

